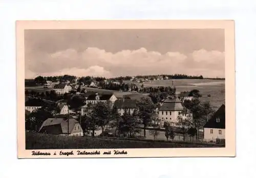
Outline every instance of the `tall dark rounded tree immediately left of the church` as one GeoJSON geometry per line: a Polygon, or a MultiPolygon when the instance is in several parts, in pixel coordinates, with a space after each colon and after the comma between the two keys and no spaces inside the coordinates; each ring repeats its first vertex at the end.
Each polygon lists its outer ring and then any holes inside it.
{"type": "Polygon", "coordinates": [[[142,97],[140,101],[137,102],[139,108],[139,117],[142,120],[144,128],[144,137],[146,137],[146,127],[152,122],[152,114],[155,110],[155,105],[149,98],[142,97]]]}

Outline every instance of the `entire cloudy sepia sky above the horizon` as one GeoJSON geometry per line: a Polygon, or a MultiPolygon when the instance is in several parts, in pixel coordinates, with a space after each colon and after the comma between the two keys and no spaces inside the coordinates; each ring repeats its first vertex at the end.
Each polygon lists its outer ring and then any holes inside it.
{"type": "Polygon", "coordinates": [[[224,30],[26,30],[25,77],[224,77],[224,30]]]}

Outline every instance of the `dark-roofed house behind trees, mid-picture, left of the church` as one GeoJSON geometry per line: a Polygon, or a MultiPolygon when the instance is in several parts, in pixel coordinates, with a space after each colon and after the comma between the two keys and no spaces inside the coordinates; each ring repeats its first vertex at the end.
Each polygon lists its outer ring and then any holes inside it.
{"type": "Polygon", "coordinates": [[[133,99],[119,99],[114,103],[113,108],[117,109],[117,112],[122,116],[125,112],[130,113],[131,115],[137,108],[136,100],[133,99]]]}

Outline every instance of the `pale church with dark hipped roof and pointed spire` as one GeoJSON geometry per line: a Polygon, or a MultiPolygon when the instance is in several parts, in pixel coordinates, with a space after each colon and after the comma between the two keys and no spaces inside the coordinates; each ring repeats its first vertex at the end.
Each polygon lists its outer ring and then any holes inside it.
{"type": "Polygon", "coordinates": [[[182,105],[182,101],[176,96],[174,82],[169,96],[163,101],[159,108],[158,118],[161,126],[163,126],[165,122],[172,126],[177,126],[180,119],[192,119],[192,113],[182,105]]]}

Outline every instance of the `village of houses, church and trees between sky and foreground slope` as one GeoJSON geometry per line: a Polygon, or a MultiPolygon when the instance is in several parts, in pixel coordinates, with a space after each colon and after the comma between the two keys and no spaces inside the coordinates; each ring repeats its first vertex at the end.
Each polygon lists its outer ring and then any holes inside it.
{"type": "Polygon", "coordinates": [[[175,77],[182,75],[25,80],[26,130],[72,137],[225,144],[224,104],[214,110],[200,101],[200,91],[177,91],[174,82],[168,87],[143,85],[175,77]]]}

